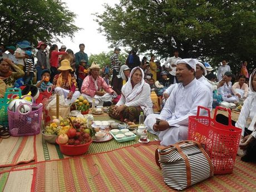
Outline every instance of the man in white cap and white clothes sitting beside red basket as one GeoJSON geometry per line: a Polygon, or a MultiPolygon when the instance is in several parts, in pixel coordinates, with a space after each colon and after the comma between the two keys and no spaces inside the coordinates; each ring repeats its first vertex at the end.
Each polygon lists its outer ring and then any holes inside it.
{"type": "MultiPolygon", "coordinates": [[[[196,80],[196,62],[191,58],[177,62],[176,77],[180,83],[174,86],[161,114],[151,114],[144,121],[149,131],[159,136],[161,145],[167,146],[187,139],[188,118],[196,115],[198,106],[211,110],[212,92],[196,80]],[[159,125],[156,124],[156,118],[160,119],[159,125]]],[[[200,115],[206,115],[206,111],[201,110],[200,115]]]]}

